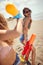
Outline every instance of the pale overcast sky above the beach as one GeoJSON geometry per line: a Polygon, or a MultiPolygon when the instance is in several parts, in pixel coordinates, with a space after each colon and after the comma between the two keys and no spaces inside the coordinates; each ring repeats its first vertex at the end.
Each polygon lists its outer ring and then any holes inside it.
{"type": "Polygon", "coordinates": [[[5,11],[5,5],[7,3],[15,4],[21,14],[23,8],[28,7],[32,10],[33,20],[43,20],[43,0],[0,0],[0,12],[3,13],[6,18],[11,16],[5,11]]]}

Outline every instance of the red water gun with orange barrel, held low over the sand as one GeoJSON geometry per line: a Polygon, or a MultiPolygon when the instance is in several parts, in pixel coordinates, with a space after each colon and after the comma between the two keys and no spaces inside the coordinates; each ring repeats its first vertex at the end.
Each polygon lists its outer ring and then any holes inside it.
{"type": "Polygon", "coordinates": [[[27,61],[28,60],[28,57],[29,57],[29,54],[32,50],[32,44],[34,42],[36,38],[36,35],[35,34],[32,34],[31,38],[29,41],[27,41],[25,47],[24,47],[24,50],[22,51],[22,56],[20,57],[20,60],[22,62],[24,62],[25,60],[27,61]]]}

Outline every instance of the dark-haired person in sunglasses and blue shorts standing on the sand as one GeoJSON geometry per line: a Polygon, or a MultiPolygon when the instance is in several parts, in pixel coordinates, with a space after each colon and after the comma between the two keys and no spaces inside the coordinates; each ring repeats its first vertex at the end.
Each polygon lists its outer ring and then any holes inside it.
{"type": "MultiPolygon", "coordinates": [[[[32,23],[32,19],[31,19],[31,10],[29,8],[24,8],[23,9],[23,15],[24,15],[24,19],[23,19],[23,33],[20,37],[20,41],[25,45],[27,42],[27,38],[28,38],[28,30],[31,27],[31,23],[32,23]]],[[[35,48],[32,46],[32,65],[35,65],[35,56],[36,56],[36,51],[35,48]]],[[[27,62],[28,65],[31,65],[31,63],[27,62]]]]}

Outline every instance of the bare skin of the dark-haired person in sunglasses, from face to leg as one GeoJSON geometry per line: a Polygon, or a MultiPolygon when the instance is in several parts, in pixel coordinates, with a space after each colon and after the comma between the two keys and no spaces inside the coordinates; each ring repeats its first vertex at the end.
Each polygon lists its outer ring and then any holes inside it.
{"type": "MultiPolygon", "coordinates": [[[[25,45],[26,42],[27,42],[27,36],[28,36],[28,30],[30,28],[28,28],[28,24],[30,24],[30,27],[31,27],[31,24],[32,24],[32,19],[31,19],[31,11],[29,11],[27,8],[25,9],[24,13],[24,27],[23,27],[23,34],[24,34],[24,40],[23,40],[23,44],[25,45]]],[[[35,65],[35,57],[36,57],[36,49],[33,47],[32,45],[32,65],[35,65]]]]}

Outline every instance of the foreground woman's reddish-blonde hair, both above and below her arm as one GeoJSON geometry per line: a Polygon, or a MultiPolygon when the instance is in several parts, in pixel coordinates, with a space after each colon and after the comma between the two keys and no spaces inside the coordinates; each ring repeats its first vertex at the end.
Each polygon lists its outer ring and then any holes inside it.
{"type": "MultiPolygon", "coordinates": [[[[0,14],[0,29],[1,30],[9,29],[8,25],[7,25],[7,20],[5,19],[5,17],[2,14],[0,14]]],[[[5,42],[7,42],[8,44],[11,44],[12,40],[11,39],[5,40],[5,42]]]]}

